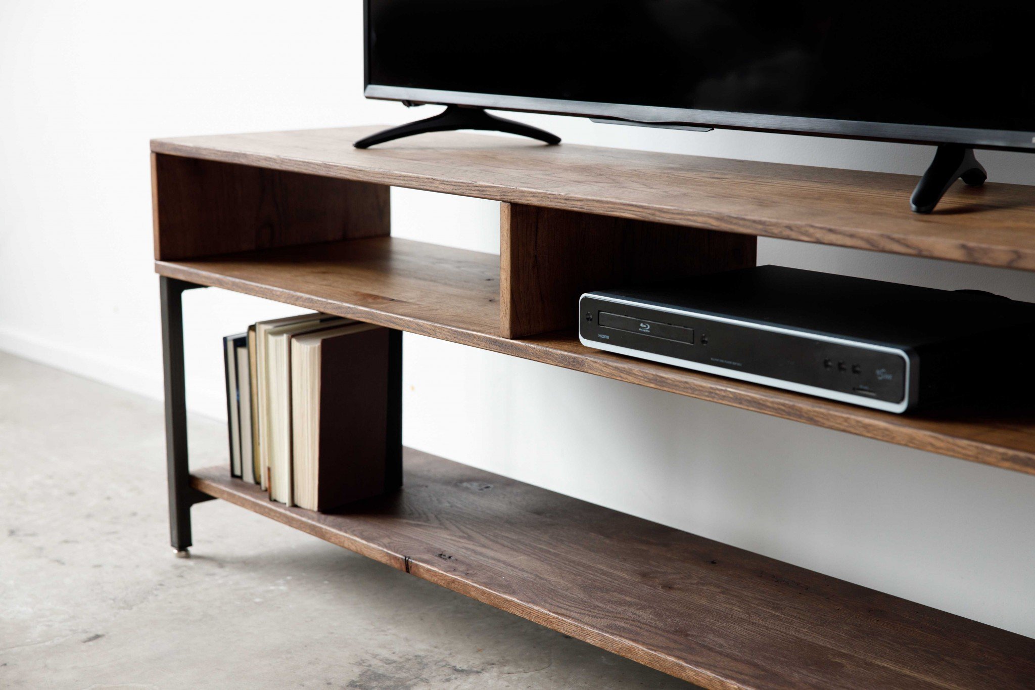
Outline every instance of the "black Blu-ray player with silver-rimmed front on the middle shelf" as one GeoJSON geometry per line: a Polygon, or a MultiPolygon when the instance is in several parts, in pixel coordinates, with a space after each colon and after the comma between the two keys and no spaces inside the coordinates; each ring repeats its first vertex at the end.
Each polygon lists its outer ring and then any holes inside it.
{"type": "Polygon", "coordinates": [[[901,413],[1031,380],[1035,304],[759,266],[587,293],[599,350],[901,413]]]}

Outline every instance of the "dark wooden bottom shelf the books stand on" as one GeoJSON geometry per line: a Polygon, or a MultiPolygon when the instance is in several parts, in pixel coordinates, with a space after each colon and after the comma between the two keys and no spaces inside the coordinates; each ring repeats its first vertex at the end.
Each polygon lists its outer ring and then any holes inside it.
{"type": "Polygon", "coordinates": [[[198,489],[705,688],[1031,688],[1035,639],[407,449],[339,514],[198,489]]]}

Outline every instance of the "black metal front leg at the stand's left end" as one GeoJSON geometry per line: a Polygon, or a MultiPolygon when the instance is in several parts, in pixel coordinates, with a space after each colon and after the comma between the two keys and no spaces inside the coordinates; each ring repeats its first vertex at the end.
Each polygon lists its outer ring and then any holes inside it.
{"type": "Polygon", "coordinates": [[[169,471],[169,528],[176,554],[190,554],[190,506],[212,497],[190,486],[187,467],[187,403],[183,377],[184,290],[204,288],[159,277],[161,290],[161,352],[166,378],[166,463],[169,471]]]}

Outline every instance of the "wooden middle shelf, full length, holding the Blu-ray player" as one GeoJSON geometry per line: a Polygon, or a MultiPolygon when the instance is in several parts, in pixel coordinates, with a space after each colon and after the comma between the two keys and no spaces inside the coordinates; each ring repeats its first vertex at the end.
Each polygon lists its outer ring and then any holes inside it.
{"type": "Polygon", "coordinates": [[[585,348],[573,331],[500,336],[499,258],[379,237],[156,262],[161,275],[617,381],[1035,474],[1035,409],[892,415],[585,348]]]}

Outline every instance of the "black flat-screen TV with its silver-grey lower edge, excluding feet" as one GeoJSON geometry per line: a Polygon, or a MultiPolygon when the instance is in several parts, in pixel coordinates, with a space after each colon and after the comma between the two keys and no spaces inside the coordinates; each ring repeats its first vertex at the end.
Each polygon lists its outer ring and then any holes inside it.
{"type": "Polygon", "coordinates": [[[366,0],[366,95],[1035,149],[1035,0],[366,0]]]}

